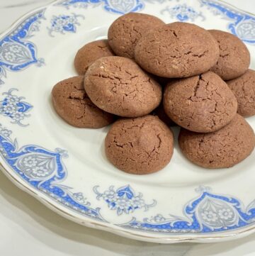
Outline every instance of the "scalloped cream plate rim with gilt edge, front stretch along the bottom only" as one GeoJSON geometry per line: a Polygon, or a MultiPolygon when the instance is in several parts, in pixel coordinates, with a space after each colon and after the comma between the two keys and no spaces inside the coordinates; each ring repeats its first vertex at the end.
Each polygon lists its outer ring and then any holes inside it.
{"type": "MultiPolygon", "coordinates": [[[[5,164],[5,163],[4,163],[5,164]]],[[[40,191],[34,189],[33,187],[30,187],[29,185],[26,186],[26,183],[23,184],[22,179],[18,177],[18,175],[14,174],[17,177],[13,177],[13,174],[11,172],[8,172],[8,166],[7,168],[4,167],[2,162],[0,162],[0,169],[1,171],[6,175],[6,177],[16,185],[19,189],[22,191],[25,191],[26,193],[30,194],[30,196],[33,196],[35,199],[38,199],[40,203],[47,206],[47,208],[50,208],[55,213],[59,214],[60,216],[69,219],[69,221],[74,221],[75,223],[78,223],[82,226],[86,226],[88,228],[96,228],[98,230],[104,230],[111,233],[114,233],[115,235],[121,235],[125,238],[135,239],[135,240],[141,240],[145,242],[152,242],[152,243],[215,243],[215,242],[224,242],[227,240],[233,240],[233,239],[239,239],[243,238],[246,235],[250,235],[251,233],[255,233],[255,226],[251,225],[246,226],[245,228],[240,228],[239,230],[235,230],[235,233],[232,233],[232,231],[227,231],[225,233],[222,233],[222,235],[219,235],[218,233],[210,233],[210,235],[201,235],[201,234],[193,234],[193,235],[186,235],[183,234],[181,237],[178,237],[177,235],[169,235],[169,238],[167,237],[153,237],[153,236],[147,236],[141,234],[135,234],[132,232],[129,232],[128,230],[123,230],[119,228],[118,226],[109,226],[105,223],[96,223],[89,218],[77,218],[73,216],[70,213],[67,213],[67,211],[62,211],[61,206],[59,204],[56,204],[54,200],[52,200],[50,197],[46,196],[45,194],[42,194],[40,191]],[[21,179],[21,182],[18,180],[21,179]],[[176,237],[173,237],[176,236],[176,237]]]]}

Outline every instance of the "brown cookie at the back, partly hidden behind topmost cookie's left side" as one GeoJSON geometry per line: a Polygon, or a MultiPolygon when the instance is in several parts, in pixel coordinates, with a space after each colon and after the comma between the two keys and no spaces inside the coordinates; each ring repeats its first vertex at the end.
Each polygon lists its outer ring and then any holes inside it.
{"type": "Polygon", "coordinates": [[[144,13],[128,13],[117,18],[108,30],[108,41],[118,56],[134,58],[137,41],[148,29],[162,26],[159,18],[144,13]]]}

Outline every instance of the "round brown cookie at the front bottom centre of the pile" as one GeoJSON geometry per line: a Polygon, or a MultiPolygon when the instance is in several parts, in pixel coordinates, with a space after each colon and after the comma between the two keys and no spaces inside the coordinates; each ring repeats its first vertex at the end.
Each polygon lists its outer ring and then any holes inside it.
{"type": "Polygon", "coordinates": [[[131,174],[149,174],[169,163],[174,152],[174,137],[157,116],[126,118],[113,123],[105,148],[108,160],[118,169],[131,174]]]}

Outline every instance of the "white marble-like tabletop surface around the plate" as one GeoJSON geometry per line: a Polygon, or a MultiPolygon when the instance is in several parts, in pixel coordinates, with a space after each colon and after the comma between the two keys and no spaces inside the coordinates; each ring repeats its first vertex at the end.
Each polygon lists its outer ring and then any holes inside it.
{"type": "MultiPolygon", "coordinates": [[[[0,32],[51,0],[0,0],[0,32]]],[[[228,0],[255,13],[253,0],[228,0]]],[[[144,243],[67,221],[16,188],[0,172],[0,256],[236,256],[255,255],[255,234],[228,243],[144,243]]]]}

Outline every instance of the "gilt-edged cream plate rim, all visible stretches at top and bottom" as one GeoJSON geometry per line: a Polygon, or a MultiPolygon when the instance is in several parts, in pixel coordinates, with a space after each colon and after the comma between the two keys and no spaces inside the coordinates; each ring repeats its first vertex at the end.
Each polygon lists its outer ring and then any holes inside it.
{"type": "MultiPolygon", "coordinates": [[[[26,18],[30,17],[33,13],[36,13],[38,11],[42,11],[43,9],[47,9],[49,6],[55,5],[57,2],[61,2],[62,0],[53,0],[50,1],[50,3],[45,4],[43,6],[40,6],[39,8],[33,9],[31,11],[28,11],[20,18],[17,18],[16,21],[14,21],[11,26],[9,26],[6,30],[4,30],[2,33],[0,33],[0,37],[4,37],[4,35],[11,32],[13,28],[15,28],[19,23],[24,21],[26,18]]],[[[230,6],[232,9],[236,9],[237,11],[241,11],[242,13],[249,13],[248,11],[243,11],[242,9],[239,9],[235,7],[232,4],[228,4],[225,1],[217,0],[218,2],[230,6]]],[[[251,16],[255,16],[254,13],[249,13],[251,16]]],[[[251,233],[255,233],[255,223],[251,223],[250,226],[245,226],[243,228],[235,229],[235,230],[227,230],[226,232],[219,234],[219,233],[210,233],[210,235],[206,235],[203,233],[195,233],[195,234],[167,234],[162,236],[162,238],[159,238],[161,234],[157,234],[158,237],[154,237],[153,233],[150,236],[142,235],[142,232],[137,230],[137,232],[134,232],[132,230],[124,229],[119,226],[115,226],[113,223],[101,223],[100,221],[94,221],[90,218],[83,216],[84,218],[78,218],[75,216],[75,214],[71,214],[72,211],[63,211],[61,204],[57,204],[50,196],[46,196],[41,191],[35,189],[34,187],[30,186],[27,182],[24,182],[21,177],[16,174],[16,172],[13,172],[13,169],[11,169],[10,166],[6,163],[4,158],[0,156],[0,169],[1,171],[6,175],[6,177],[16,185],[19,189],[22,191],[25,191],[26,193],[33,196],[35,199],[40,201],[40,203],[47,206],[47,208],[50,208],[55,213],[58,213],[60,216],[69,219],[70,221],[74,221],[75,223],[79,223],[82,226],[86,226],[89,228],[96,228],[98,230],[105,230],[111,233],[114,233],[116,235],[121,235],[125,238],[135,239],[135,240],[142,240],[146,242],[152,242],[152,243],[183,243],[183,242],[189,242],[189,243],[215,243],[215,242],[223,242],[227,240],[233,240],[242,238],[246,235],[250,235],[251,233]],[[233,233],[234,231],[234,233],[233,233]]]]}

